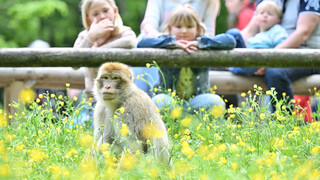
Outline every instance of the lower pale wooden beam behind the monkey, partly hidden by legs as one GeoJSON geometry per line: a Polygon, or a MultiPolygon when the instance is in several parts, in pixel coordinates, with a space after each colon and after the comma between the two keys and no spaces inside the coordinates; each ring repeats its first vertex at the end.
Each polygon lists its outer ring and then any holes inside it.
{"type": "MultiPolygon", "coordinates": [[[[237,94],[253,90],[253,85],[267,89],[263,77],[234,75],[229,71],[210,71],[210,86],[217,86],[218,94],[237,94]]],[[[84,68],[44,67],[44,68],[0,68],[0,87],[8,87],[14,82],[34,81],[33,88],[66,89],[66,83],[71,88],[84,89],[84,68]]],[[[320,89],[320,74],[301,78],[292,84],[295,94],[310,95],[309,90],[320,89]]]]}

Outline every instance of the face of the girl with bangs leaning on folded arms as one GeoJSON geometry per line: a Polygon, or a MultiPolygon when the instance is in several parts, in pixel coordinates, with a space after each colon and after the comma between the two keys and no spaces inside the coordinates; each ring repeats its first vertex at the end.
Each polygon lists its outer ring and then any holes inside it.
{"type": "Polygon", "coordinates": [[[171,27],[171,35],[175,35],[177,40],[193,41],[197,36],[197,26],[190,24],[176,24],[171,27]]]}

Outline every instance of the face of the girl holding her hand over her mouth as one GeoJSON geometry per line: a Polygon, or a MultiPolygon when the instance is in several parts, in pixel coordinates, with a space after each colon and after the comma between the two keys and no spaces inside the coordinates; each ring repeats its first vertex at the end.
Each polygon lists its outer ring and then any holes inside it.
{"type": "Polygon", "coordinates": [[[118,9],[112,8],[108,2],[95,0],[88,9],[88,24],[91,24],[94,20],[98,23],[103,19],[109,19],[114,22],[117,13],[118,9]]]}

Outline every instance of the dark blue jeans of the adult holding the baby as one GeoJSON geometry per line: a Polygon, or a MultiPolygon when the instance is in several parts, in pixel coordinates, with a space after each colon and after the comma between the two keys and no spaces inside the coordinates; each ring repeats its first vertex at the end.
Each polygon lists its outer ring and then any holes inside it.
{"type": "Polygon", "coordinates": [[[265,82],[268,89],[275,88],[278,100],[282,99],[282,93],[291,100],[294,95],[291,83],[312,74],[320,74],[320,68],[267,68],[265,82]]]}

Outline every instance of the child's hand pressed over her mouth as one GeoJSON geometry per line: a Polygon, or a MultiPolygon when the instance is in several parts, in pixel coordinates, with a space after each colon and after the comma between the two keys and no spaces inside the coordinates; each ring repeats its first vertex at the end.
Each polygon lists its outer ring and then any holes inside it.
{"type": "Polygon", "coordinates": [[[99,22],[97,22],[97,19],[93,19],[92,24],[90,26],[88,36],[91,39],[91,41],[97,40],[102,35],[106,35],[114,30],[113,22],[109,19],[103,19],[99,22]]]}

